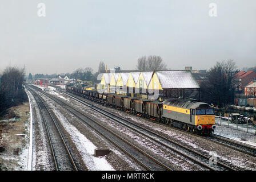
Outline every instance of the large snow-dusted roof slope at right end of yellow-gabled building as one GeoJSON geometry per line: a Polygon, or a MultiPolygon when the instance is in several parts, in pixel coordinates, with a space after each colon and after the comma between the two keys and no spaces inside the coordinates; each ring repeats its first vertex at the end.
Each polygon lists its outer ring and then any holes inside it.
{"type": "Polygon", "coordinates": [[[163,89],[199,89],[190,71],[156,71],[163,89]]]}

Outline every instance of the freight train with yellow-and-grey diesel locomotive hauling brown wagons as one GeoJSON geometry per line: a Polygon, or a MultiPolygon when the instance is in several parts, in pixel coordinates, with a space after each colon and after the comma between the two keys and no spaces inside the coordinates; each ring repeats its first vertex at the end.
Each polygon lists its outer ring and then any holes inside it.
{"type": "Polygon", "coordinates": [[[84,90],[74,86],[66,86],[66,91],[192,133],[210,135],[216,127],[214,109],[204,102],[173,98],[162,102],[150,101],[118,94],[98,93],[96,90],[84,90]]]}

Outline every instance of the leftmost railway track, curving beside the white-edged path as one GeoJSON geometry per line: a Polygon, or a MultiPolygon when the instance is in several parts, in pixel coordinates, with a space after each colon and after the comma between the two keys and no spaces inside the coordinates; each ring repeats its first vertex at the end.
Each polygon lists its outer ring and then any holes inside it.
{"type": "Polygon", "coordinates": [[[61,132],[58,129],[57,122],[53,114],[47,108],[42,98],[35,93],[32,89],[27,88],[35,101],[37,102],[38,108],[41,112],[43,123],[46,128],[47,137],[49,139],[51,152],[54,160],[54,167],[57,171],[77,171],[77,166],[74,162],[73,157],[67,148],[66,142],[63,139],[61,132]]]}

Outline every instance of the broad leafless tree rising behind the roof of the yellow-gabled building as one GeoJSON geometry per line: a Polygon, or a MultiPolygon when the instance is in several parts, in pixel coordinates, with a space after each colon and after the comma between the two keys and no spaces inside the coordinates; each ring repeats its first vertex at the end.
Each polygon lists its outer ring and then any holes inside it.
{"type": "Polygon", "coordinates": [[[142,56],[138,59],[137,69],[139,71],[155,71],[166,69],[161,56],[142,56]]]}

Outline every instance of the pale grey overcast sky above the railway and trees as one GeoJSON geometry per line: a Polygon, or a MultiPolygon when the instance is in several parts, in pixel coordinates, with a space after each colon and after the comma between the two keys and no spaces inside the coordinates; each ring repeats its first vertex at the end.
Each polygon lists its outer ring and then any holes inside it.
{"type": "Polygon", "coordinates": [[[0,2],[0,71],[25,65],[33,75],[96,72],[100,61],[135,69],[138,57],[149,55],[171,69],[209,69],[227,59],[243,68],[256,65],[255,52],[255,0],[0,2]],[[217,16],[209,16],[210,3],[217,16]]]}

